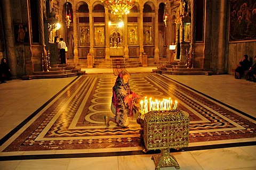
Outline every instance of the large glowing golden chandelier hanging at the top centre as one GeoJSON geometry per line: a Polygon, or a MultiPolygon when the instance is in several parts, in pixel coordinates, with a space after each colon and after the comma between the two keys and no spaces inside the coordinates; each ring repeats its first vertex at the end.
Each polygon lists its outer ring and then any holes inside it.
{"type": "Polygon", "coordinates": [[[122,16],[128,14],[138,0],[102,0],[101,2],[110,10],[111,14],[122,16]]]}

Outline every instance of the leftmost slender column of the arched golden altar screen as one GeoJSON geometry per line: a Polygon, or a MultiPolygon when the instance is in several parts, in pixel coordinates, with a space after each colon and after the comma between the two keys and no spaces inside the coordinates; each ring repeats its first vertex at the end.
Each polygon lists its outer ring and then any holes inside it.
{"type": "Polygon", "coordinates": [[[73,10],[73,31],[74,31],[74,64],[75,66],[79,63],[79,57],[78,57],[78,49],[77,49],[77,23],[76,23],[76,10],[73,10]]]}

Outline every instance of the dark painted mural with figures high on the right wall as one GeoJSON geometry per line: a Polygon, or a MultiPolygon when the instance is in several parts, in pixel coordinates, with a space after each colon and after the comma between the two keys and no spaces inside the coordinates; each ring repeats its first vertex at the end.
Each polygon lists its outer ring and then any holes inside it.
{"type": "Polygon", "coordinates": [[[229,40],[256,39],[256,1],[230,1],[229,40]]]}

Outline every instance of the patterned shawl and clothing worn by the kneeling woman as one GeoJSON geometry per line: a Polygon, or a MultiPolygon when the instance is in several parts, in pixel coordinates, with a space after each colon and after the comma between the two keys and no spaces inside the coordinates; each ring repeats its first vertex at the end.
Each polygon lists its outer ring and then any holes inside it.
{"type": "Polygon", "coordinates": [[[139,98],[137,94],[131,91],[129,82],[124,83],[124,73],[122,71],[118,74],[112,96],[112,104],[116,109],[116,122],[121,127],[127,127],[129,125],[128,116],[133,116],[134,101],[139,98]],[[130,94],[132,98],[129,97],[130,94]]]}

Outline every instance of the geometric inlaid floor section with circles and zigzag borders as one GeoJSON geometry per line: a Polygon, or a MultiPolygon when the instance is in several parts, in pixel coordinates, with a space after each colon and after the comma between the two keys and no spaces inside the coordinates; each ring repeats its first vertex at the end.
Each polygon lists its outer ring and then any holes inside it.
{"type": "MultiPolygon", "coordinates": [[[[78,77],[41,108],[38,118],[3,152],[143,146],[135,118],[127,128],[114,123],[107,127],[103,122],[104,115],[113,116],[115,80],[110,74],[78,77]]],[[[178,109],[189,114],[189,143],[256,136],[256,124],[250,118],[164,75],[131,74],[129,82],[142,99],[178,101],[178,109]]]]}

